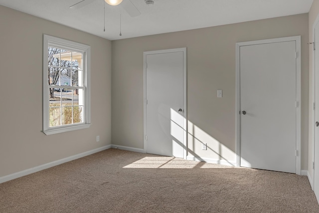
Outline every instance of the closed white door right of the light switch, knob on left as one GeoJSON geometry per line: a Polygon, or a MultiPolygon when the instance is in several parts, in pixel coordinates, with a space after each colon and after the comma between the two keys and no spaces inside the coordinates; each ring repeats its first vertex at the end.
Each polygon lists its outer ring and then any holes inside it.
{"type": "Polygon", "coordinates": [[[240,47],[240,166],[296,173],[296,41],[240,47]]]}

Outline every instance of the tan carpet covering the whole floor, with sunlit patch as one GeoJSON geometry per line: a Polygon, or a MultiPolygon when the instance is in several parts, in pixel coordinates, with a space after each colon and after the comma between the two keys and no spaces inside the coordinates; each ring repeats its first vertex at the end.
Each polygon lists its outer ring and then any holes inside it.
{"type": "Polygon", "coordinates": [[[305,176],[109,149],[0,184],[1,213],[319,213],[305,176]]]}

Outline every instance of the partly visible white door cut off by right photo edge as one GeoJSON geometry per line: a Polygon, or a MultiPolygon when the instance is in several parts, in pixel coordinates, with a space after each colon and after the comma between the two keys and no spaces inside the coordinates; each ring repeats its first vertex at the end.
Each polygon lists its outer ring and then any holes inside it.
{"type": "MultiPolygon", "coordinates": [[[[315,43],[319,41],[319,22],[315,26],[315,43]]],[[[318,46],[318,44],[316,45],[318,46]]],[[[319,202],[319,53],[315,50],[315,170],[314,191],[319,202]]]]}

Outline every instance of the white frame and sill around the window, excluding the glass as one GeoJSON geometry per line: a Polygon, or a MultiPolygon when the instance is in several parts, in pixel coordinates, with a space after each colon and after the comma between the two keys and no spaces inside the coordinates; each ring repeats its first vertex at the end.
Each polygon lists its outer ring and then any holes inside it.
{"type": "Polygon", "coordinates": [[[85,44],[43,34],[43,133],[51,135],[73,130],[89,128],[91,125],[91,97],[90,97],[90,65],[91,47],[85,44]],[[84,110],[83,123],[49,126],[49,85],[48,85],[48,46],[81,52],[83,54],[83,87],[84,110]]]}

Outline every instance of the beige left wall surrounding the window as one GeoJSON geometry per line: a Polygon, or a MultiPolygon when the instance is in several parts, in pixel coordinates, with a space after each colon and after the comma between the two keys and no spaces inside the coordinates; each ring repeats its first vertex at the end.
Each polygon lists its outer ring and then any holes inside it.
{"type": "Polygon", "coordinates": [[[0,177],[111,144],[111,41],[0,6],[0,47],[0,177]],[[43,34],[91,46],[88,129],[41,132],[43,34]]]}

